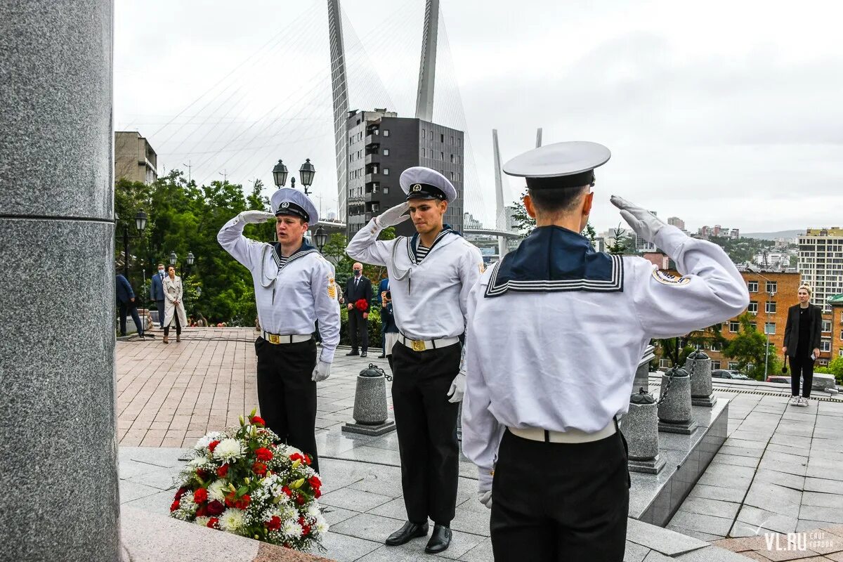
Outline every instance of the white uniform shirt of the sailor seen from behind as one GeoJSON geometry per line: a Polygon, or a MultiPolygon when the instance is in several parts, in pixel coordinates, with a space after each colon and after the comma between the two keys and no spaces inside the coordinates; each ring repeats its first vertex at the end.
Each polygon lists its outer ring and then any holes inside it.
{"type": "MultiPolygon", "coordinates": [[[[569,231],[570,232],[570,231],[569,231]]],[[[688,334],[732,318],[749,303],[746,283],[717,245],[663,227],[656,243],[681,278],[636,256],[615,260],[622,291],[518,292],[486,297],[490,268],[469,299],[463,451],[481,490],[505,428],[599,431],[629,408],[651,338],[688,334]]]]}

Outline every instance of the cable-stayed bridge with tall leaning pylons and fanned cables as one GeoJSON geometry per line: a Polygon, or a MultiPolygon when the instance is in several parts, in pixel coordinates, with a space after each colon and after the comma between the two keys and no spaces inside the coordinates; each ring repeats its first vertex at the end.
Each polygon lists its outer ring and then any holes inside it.
{"type": "Polygon", "coordinates": [[[159,162],[187,169],[198,184],[262,179],[268,194],[278,158],[291,171],[310,158],[314,202],[325,217],[336,210],[335,227],[345,219],[348,111],[388,108],[465,131],[460,195],[464,211],[482,223],[465,232],[498,236],[505,252],[504,239],[517,234],[507,228],[513,196],[500,171],[497,131],[479,141],[491,140],[495,153],[494,182],[482,183],[439,0],[389,6],[389,13],[367,13],[368,30],[358,35],[340,0],[317,0],[177,115],[132,125],[154,123],[147,136],[159,162]]]}

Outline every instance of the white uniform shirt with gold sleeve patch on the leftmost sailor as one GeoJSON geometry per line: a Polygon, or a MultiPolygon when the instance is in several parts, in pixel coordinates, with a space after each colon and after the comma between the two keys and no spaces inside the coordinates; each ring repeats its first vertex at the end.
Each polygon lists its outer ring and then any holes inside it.
{"type": "Polygon", "coordinates": [[[309,335],[318,319],[322,336],[319,361],[334,361],[340,343],[334,266],[316,249],[303,249],[279,267],[272,244],[244,237],[244,226],[234,217],[219,231],[217,241],[250,270],[260,327],[271,334],[309,335]]]}

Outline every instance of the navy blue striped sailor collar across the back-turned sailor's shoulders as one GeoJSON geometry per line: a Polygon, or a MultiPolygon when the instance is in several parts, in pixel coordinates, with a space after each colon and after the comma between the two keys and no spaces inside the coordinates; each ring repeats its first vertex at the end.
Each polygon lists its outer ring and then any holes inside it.
{"type": "Polygon", "coordinates": [[[497,262],[485,297],[518,292],[622,292],[620,255],[595,252],[582,234],[567,228],[536,227],[518,248],[497,262]]]}

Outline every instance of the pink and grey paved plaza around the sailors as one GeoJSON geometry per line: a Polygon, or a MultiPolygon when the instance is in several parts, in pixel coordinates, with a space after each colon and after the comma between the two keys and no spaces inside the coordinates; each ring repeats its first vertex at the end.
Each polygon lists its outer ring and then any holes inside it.
{"type": "MultiPolygon", "coordinates": [[[[185,447],[255,407],[254,338],[251,329],[190,329],[179,344],[118,343],[124,505],[165,515],[185,447]]],[[[331,523],[323,555],[430,559],[425,539],[383,545],[405,518],[395,432],[351,436],[341,426],[352,421],[357,373],[369,362],[389,367],[376,358],[379,350],[366,359],[346,351],[337,351],[330,379],[319,383],[322,502],[331,523]]],[[[651,390],[658,380],[651,377],[651,390]]],[[[789,390],[765,383],[716,383],[715,392],[731,399],[727,441],[668,528],[630,520],[626,560],[843,562],[843,401],[787,406],[789,390]],[[794,539],[804,543],[798,549],[775,534],[802,531],[808,533],[794,539]]],[[[454,541],[441,557],[491,560],[489,511],[475,497],[475,467],[463,458],[459,473],[454,541]]]]}

